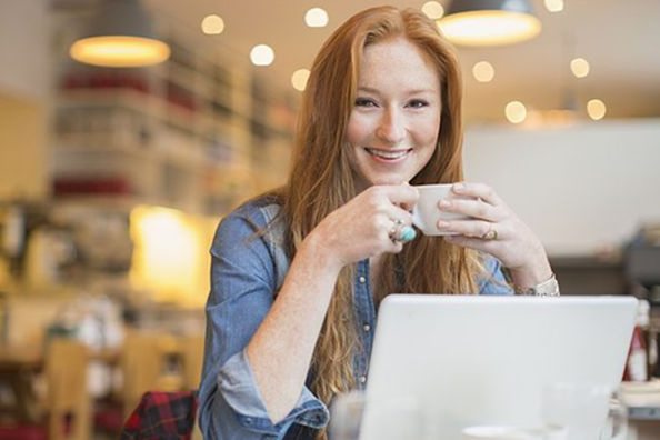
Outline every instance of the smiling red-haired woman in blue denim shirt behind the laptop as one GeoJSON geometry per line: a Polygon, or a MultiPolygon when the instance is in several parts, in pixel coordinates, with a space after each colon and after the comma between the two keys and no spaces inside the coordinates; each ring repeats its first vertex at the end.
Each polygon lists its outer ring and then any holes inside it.
{"type": "Polygon", "coordinates": [[[326,436],[327,406],[364,386],[391,292],[556,287],[537,237],[480,183],[410,240],[416,184],[460,182],[458,62],[436,24],[382,7],[349,19],[311,69],[284,188],[240,207],[211,253],[200,424],[213,439],[326,436]],[[401,234],[402,233],[402,234],[401,234]]]}

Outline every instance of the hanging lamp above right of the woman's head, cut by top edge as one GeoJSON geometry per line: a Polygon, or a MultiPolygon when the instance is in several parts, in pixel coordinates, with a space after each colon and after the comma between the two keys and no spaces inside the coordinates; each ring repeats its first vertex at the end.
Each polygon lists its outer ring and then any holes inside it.
{"type": "Polygon", "coordinates": [[[541,32],[528,0],[453,0],[438,26],[461,46],[511,44],[541,32]]]}

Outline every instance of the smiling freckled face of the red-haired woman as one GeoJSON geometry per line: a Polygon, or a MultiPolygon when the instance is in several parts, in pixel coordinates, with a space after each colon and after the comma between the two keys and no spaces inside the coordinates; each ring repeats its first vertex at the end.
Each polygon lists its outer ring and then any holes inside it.
{"type": "Polygon", "coordinates": [[[438,142],[440,79],[403,38],[364,48],[346,140],[359,191],[410,181],[438,142]]]}

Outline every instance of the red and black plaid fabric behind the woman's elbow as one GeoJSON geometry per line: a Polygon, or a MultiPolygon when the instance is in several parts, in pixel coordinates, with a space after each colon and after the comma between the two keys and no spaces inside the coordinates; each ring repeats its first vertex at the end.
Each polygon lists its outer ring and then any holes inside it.
{"type": "Polygon", "coordinates": [[[193,391],[149,391],[121,431],[121,440],[189,440],[194,427],[193,391]]]}

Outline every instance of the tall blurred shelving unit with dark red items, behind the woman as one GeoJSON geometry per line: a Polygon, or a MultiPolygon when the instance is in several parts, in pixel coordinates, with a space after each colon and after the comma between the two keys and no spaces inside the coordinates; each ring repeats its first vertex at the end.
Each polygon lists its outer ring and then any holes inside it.
{"type": "Polygon", "coordinates": [[[168,42],[170,60],[142,69],[86,67],[60,48],[56,198],[117,197],[218,216],[283,182],[294,99],[250,67],[168,42]]]}

